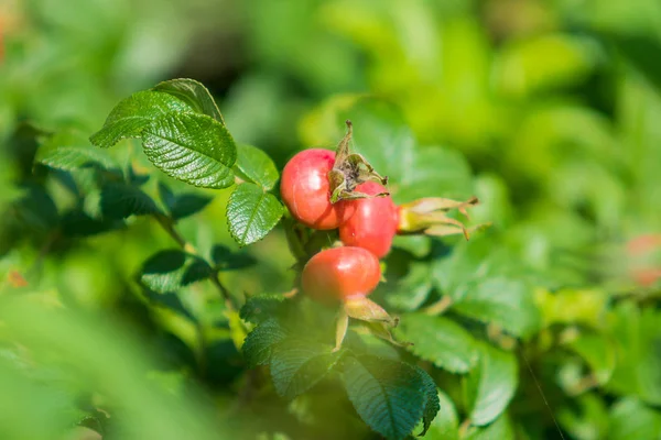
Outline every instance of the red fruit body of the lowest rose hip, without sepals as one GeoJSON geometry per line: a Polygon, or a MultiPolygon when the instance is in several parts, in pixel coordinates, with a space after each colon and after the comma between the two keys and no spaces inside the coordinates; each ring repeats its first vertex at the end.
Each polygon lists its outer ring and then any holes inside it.
{"type": "Polygon", "coordinates": [[[303,292],[312,299],[333,304],[364,298],[381,279],[379,260],[361,248],[327,249],[314,255],[301,276],[303,292]]]}

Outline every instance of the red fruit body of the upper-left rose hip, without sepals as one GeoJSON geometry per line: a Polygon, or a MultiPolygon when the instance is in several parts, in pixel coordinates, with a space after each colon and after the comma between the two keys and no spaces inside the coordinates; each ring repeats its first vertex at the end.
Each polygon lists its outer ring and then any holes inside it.
{"type": "Polygon", "coordinates": [[[296,220],[310,228],[336,229],[355,211],[346,200],[330,204],[328,173],[334,163],[334,152],[311,148],[292,157],[282,170],[282,201],[296,220]]]}

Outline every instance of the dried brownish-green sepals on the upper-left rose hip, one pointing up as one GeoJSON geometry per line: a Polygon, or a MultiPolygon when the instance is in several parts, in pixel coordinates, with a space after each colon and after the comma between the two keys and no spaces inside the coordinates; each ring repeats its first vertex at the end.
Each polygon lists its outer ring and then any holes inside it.
{"type": "Polygon", "coordinates": [[[330,202],[336,204],[340,200],[389,196],[390,193],[388,191],[376,195],[356,191],[356,187],[366,182],[376,182],[386,185],[388,184],[388,177],[381,177],[360,154],[350,153],[349,143],[354,133],[354,125],[349,120],[346,121],[346,124],[347,134],[339,141],[335,155],[335,164],[333,165],[333,169],[328,172],[330,202]]]}

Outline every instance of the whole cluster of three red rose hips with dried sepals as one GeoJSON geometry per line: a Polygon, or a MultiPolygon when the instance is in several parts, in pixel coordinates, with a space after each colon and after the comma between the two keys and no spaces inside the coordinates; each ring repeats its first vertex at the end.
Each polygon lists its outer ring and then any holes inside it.
{"type": "Polygon", "coordinates": [[[338,320],[337,346],[348,318],[394,324],[397,320],[367,296],[381,280],[379,258],[390,252],[397,234],[448,235],[468,230],[447,217],[451,209],[467,216],[476,198],[455,201],[423,198],[397,206],[381,177],[359,154],[350,153],[353,128],[336,152],[302,151],[282,172],[281,195],[292,217],[314,230],[338,230],[342,245],[322,250],[305,264],[301,274],[303,292],[323,304],[343,304],[338,320]]]}

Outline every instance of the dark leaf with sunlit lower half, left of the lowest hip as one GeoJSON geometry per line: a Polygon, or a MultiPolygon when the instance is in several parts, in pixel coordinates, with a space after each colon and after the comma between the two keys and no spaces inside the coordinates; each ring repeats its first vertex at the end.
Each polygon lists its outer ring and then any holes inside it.
{"type": "Polygon", "coordinates": [[[156,253],[143,264],[140,280],[150,289],[166,294],[206,279],[210,274],[212,267],[201,257],[169,250],[156,253]]]}

